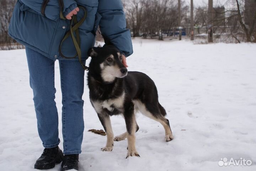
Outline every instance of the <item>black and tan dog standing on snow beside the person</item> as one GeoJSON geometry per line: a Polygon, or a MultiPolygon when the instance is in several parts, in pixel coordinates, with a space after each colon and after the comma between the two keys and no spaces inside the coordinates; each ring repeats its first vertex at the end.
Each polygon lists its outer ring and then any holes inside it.
{"type": "Polygon", "coordinates": [[[112,45],[91,48],[88,72],[90,100],[107,133],[107,143],[102,151],[112,151],[114,141],[127,138],[129,156],[139,156],[135,148],[135,132],[139,126],[135,113],[160,122],[165,129],[165,140],[173,139],[165,109],[158,101],[156,86],[144,73],[129,71],[122,64],[122,55],[112,45]],[[122,114],[127,132],[114,137],[110,116],[122,114]]]}

